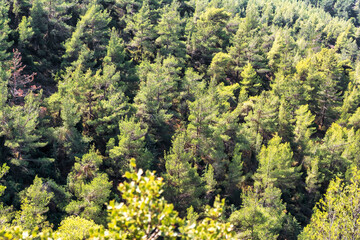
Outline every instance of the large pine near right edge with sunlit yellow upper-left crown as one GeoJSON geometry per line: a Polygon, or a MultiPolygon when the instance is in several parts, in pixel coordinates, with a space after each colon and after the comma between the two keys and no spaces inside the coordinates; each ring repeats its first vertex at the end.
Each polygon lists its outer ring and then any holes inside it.
{"type": "Polygon", "coordinates": [[[337,107],[349,78],[335,50],[322,49],[321,52],[300,61],[297,74],[305,85],[305,98],[309,108],[316,114],[316,123],[327,127],[336,119],[337,107]]]}

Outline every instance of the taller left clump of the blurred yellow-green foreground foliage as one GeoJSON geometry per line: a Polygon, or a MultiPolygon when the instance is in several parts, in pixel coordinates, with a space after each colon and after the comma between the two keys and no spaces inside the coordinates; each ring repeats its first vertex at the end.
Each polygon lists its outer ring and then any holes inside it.
{"type": "Polygon", "coordinates": [[[145,176],[142,174],[141,169],[137,173],[125,173],[129,182],[119,185],[123,202],[110,202],[108,229],[105,235],[100,231],[103,239],[157,239],[160,236],[176,239],[179,235],[175,228],[181,219],[173,205],[160,197],[162,179],[150,171],[145,176]]]}

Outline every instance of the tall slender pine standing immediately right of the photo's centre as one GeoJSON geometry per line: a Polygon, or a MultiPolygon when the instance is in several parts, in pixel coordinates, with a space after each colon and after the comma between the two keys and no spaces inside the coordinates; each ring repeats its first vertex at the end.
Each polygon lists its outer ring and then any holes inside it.
{"type": "Polygon", "coordinates": [[[207,89],[202,83],[195,92],[195,100],[189,102],[190,123],[187,133],[196,161],[203,159],[205,163],[216,163],[221,168],[221,160],[226,159],[223,143],[223,138],[226,139],[226,124],[220,125],[221,114],[230,111],[226,100],[231,99],[237,88],[238,85],[224,87],[222,84],[217,87],[212,83],[207,89]],[[229,95],[220,95],[222,88],[227,88],[229,95]]]}

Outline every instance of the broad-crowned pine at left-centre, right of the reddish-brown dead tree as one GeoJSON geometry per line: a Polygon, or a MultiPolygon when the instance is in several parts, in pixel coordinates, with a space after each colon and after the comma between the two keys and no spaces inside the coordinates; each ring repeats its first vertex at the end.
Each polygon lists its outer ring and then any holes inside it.
{"type": "Polygon", "coordinates": [[[77,109],[74,111],[81,117],[84,135],[97,143],[104,144],[115,136],[118,121],[128,111],[119,80],[120,74],[114,65],[105,65],[96,73],[91,70],[83,73],[78,66],[75,70],[69,68],[59,84],[60,102],[75,104],[67,106],[77,109]]]}

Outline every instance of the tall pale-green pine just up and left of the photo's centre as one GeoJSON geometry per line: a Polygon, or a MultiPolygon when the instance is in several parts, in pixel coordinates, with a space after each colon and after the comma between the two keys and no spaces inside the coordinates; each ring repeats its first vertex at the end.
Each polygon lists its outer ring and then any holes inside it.
{"type": "Polygon", "coordinates": [[[173,56],[164,60],[157,58],[153,64],[143,62],[138,73],[141,83],[134,99],[136,116],[149,126],[157,146],[164,148],[171,142],[169,125],[179,94],[179,62],[173,56]]]}

